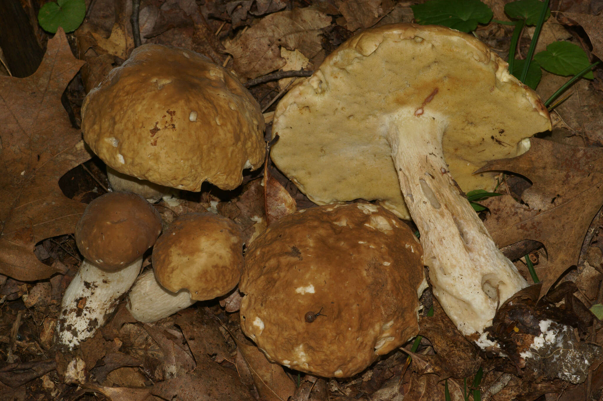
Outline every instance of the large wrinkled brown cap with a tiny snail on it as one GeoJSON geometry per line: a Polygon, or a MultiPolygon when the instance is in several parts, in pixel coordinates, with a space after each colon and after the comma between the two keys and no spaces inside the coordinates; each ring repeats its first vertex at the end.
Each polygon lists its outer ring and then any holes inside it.
{"type": "Polygon", "coordinates": [[[273,361],[348,377],[417,334],[426,286],[421,245],[393,213],[361,203],[300,210],[251,243],[241,328],[273,361]]]}

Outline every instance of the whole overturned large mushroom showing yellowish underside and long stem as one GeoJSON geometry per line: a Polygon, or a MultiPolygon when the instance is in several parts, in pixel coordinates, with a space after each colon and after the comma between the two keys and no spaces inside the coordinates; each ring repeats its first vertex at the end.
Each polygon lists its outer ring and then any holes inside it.
{"type": "Polygon", "coordinates": [[[274,114],[280,138],[271,157],[317,203],[377,198],[391,206],[401,190],[434,295],[476,337],[527,283],[453,176],[515,156],[523,139],[551,128],[538,95],[507,67],[471,35],[384,25],[339,46],[274,114]]]}

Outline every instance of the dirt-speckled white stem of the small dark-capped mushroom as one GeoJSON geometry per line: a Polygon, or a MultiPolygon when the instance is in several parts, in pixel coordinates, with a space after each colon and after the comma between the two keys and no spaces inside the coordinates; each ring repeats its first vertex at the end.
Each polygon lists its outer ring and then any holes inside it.
{"type": "Polygon", "coordinates": [[[65,290],[57,321],[57,344],[73,349],[102,327],[140,273],[142,257],[116,272],[85,260],[65,290]]]}

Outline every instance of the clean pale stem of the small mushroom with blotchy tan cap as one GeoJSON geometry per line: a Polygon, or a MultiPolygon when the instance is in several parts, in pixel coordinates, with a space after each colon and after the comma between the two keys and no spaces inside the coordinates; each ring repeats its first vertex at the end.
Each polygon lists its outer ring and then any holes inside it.
{"type": "Polygon", "coordinates": [[[141,274],[128,293],[126,308],[139,322],[152,323],[194,304],[188,290],[171,292],[159,284],[152,270],[141,274]]]}

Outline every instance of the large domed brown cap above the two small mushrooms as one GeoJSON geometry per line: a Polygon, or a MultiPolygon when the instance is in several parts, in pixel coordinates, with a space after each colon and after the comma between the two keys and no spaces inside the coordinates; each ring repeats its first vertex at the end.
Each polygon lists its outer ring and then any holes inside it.
{"type": "Polygon", "coordinates": [[[236,188],[264,161],[264,117],[230,72],[195,52],[144,44],[86,96],[84,140],[138,179],[200,191],[236,188]]]}

